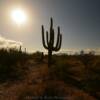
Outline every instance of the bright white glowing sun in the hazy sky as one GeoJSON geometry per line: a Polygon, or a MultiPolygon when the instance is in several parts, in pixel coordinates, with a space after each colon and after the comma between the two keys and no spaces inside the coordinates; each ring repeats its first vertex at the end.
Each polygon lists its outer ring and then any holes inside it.
{"type": "Polygon", "coordinates": [[[26,22],[27,16],[22,9],[14,9],[11,12],[11,17],[16,24],[21,25],[26,22]]]}

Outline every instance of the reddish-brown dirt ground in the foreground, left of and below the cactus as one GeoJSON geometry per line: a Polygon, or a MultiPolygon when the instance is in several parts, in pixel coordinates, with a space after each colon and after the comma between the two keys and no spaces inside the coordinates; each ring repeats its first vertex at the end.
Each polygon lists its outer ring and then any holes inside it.
{"type": "Polygon", "coordinates": [[[40,100],[96,100],[63,81],[49,80],[49,69],[46,63],[30,60],[25,65],[29,67],[29,71],[24,80],[0,85],[0,100],[39,100],[37,97],[40,97],[40,100]],[[55,91],[55,96],[51,97],[47,94],[49,91],[55,91]]]}

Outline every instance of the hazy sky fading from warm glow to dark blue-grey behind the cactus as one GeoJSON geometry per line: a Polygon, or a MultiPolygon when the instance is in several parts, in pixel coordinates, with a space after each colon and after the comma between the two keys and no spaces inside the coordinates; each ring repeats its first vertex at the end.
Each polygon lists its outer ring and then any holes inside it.
{"type": "Polygon", "coordinates": [[[49,30],[50,17],[55,37],[57,26],[61,28],[61,51],[100,50],[100,0],[0,0],[0,39],[21,43],[28,51],[44,51],[41,25],[49,30]],[[16,8],[27,14],[20,26],[10,16],[16,8]]]}

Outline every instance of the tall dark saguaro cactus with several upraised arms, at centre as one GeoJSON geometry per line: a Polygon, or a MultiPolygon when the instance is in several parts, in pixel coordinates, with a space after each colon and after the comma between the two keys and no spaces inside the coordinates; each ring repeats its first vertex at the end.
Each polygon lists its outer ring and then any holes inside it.
{"type": "Polygon", "coordinates": [[[50,22],[50,32],[46,31],[46,41],[45,41],[45,30],[44,26],[42,25],[42,43],[45,49],[48,50],[48,67],[50,67],[51,62],[52,62],[52,52],[53,51],[59,51],[61,48],[61,43],[62,43],[62,34],[60,33],[60,27],[58,26],[58,35],[57,35],[57,42],[56,45],[54,46],[54,28],[53,28],[53,19],[51,18],[50,22]]]}

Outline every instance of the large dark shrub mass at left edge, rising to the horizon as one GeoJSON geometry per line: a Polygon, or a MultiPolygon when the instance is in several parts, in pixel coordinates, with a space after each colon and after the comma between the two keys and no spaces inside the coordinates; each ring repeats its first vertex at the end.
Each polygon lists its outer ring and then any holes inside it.
{"type": "Polygon", "coordinates": [[[19,79],[22,74],[21,67],[18,63],[25,63],[28,54],[20,52],[16,49],[0,50],[0,82],[6,80],[19,79]]]}

